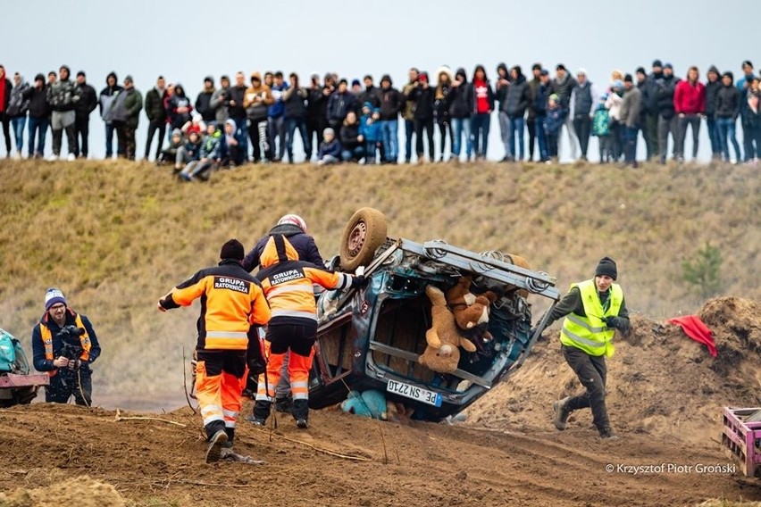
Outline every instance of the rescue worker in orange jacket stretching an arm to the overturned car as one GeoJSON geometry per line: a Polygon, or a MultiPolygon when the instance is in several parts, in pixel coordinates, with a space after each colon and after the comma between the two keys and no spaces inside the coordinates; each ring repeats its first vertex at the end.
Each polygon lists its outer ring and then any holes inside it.
{"type": "Polygon", "coordinates": [[[353,277],[298,261],[296,249],[286,237],[274,235],[267,240],[261,256],[264,295],[272,308],[264,350],[267,371],[259,377],[254,415],[248,420],[263,426],[270,415],[275,386],[285,354],[290,351],[289,375],[293,394],[291,413],[298,428],[307,428],[309,418],[309,370],[312,369],[314,340],[317,337],[317,306],[312,284],[330,289],[361,287],[364,277],[353,277]]]}

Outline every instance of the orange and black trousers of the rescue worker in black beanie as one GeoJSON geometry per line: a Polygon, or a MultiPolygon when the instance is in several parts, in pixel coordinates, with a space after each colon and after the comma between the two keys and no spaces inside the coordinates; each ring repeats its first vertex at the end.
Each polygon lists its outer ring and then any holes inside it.
{"type": "Polygon", "coordinates": [[[246,386],[246,351],[203,350],[197,359],[196,397],[207,433],[235,428],[246,386]]]}

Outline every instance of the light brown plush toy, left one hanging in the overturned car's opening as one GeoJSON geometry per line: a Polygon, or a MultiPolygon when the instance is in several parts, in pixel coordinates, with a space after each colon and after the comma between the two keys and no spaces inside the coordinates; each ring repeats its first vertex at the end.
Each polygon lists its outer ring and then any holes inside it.
{"type": "Polygon", "coordinates": [[[425,294],[431,299],[431,328],[425,332],[428,344],[419,362],[429,370],[452,373],[460,362],[460,348],[475,352],[476,346],[465,339],[457,328],[455,315],[447,308],[447,298],[438,287],[425,287],[425,294]]]}

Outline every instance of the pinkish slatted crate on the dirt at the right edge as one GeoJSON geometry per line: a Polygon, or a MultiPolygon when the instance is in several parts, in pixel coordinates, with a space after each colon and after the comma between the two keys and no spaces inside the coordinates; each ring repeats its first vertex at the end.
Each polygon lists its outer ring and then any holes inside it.
{"type": "Polygon", "coordinates": [[[748,477],[761,478],[761,407],[724,407],[722,446],[740,462],[748,477]],[[752,421],[750,420],[752,419],[752,421]]]}

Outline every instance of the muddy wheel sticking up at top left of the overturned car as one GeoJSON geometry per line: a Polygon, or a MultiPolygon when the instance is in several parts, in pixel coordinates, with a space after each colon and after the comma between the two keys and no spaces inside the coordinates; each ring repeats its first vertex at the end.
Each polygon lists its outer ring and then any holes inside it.
{"type": "Polygon", "coordinates": [[[352,272],[366,266],[386,241],[386,216],[374,208],[360,208],[347,222],[341,237],[341,269],[352,272]]]}

